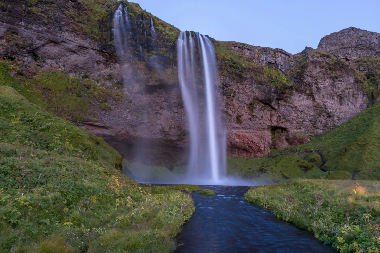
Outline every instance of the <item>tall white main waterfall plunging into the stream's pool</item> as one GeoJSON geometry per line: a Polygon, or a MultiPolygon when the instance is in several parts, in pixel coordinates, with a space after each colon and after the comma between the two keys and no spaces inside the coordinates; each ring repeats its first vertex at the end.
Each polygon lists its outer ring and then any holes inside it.
{"type": "Polygon", "coordinates": [[[218,106],[217,67],[211,41],[182,31],[177,40],[178,78],[190,131],[189,180],[218,183],[226,174],[226,134],[218,106]],[[203,77],[198,78],[200,59],[203,77]],[[203,104],[205,102],[205,105],[203,104]]]}

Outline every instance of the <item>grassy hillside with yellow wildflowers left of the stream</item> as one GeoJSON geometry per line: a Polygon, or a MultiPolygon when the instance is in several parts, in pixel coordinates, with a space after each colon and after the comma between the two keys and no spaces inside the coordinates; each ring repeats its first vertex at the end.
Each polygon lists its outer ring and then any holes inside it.
{"type": "Polygon", "coordinates": [[[101,138],[0,81],[0,252],[174,249],[190,196],[138,185],[101,138]]]}

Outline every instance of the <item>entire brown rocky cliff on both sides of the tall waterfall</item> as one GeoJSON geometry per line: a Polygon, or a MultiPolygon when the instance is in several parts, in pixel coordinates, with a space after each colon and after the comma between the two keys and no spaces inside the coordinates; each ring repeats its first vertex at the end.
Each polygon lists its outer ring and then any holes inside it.
{"type": "MultiPolygon", "coordinates": [[[[120,62],[111,32],[118,4],[6,1],[0,6],[0,56],[17,66],[12,73],[20,79],[64,71],[83,84],[90,80],[111,93],[122,92],[117,99],[93,95],[79,126],[104,137],[126,158],[144,152],[152,163],[183,163],[188,142],[176,70],[179,30],[127,3],[129,50],[120,62]],[[157,29],[154,39],[150,17],[157,29]]],[[[379,36],[349,28],[324,37],[317,50],[306,47],[297,55],[213,40],[229,154],[263,156],[271,148],[308,142],[310,135],[333,129],[379,99],[380,61],[361,59],[379,55],[379,36]]],[[[41,100],[48,101],[54,91],[44,92],[41,100]]]]}

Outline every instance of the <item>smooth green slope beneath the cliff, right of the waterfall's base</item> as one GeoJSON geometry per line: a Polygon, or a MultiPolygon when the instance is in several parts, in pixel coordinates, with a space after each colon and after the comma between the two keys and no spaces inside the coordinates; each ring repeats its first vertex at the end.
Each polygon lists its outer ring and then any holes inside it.
{"type": "Polygon", "coordinates": [[[274,150],[261,159],[230,158],[229,168],[232,175],[266,183],[347,179],[347,173],[348,178],[380,180],[380,103],[308,144],[274,150]]]}

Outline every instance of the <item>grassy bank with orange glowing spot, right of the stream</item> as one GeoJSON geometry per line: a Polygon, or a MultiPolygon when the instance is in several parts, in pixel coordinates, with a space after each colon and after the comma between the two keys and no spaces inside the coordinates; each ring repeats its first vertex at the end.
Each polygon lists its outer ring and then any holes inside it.
{"type": "Polygon", "coordinates": [[[292,180],[252,187],[246,199],[341,253],[380,251],[380,182],[292,180]]]}

